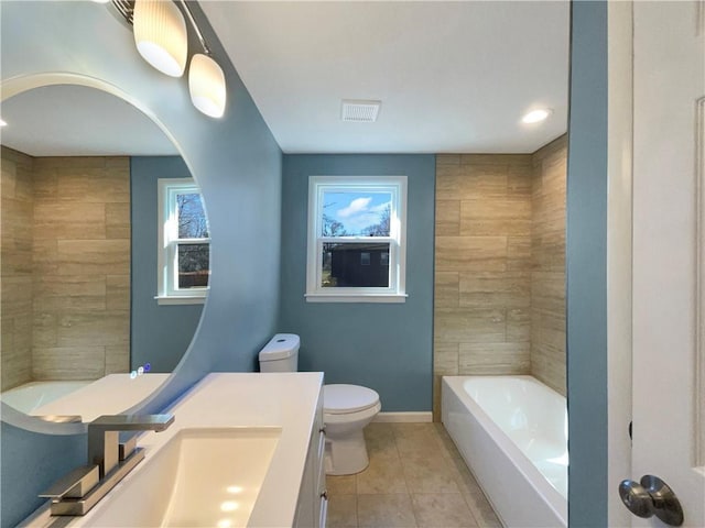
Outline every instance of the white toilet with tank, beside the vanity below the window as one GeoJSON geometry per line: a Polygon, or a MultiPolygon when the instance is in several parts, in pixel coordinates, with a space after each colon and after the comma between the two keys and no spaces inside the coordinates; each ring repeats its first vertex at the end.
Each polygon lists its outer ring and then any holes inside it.
{"type": "MultiPolygon", "coordinates": [[[[278,333],[260,351],[260,371],[296,372],[299,346],[299,336],[278,333]]],[[[362,429],[381,408],[379,394],[371,388],[348,384],[323,386],[326,474],[352,475],[368,466],[362,429]]]]}

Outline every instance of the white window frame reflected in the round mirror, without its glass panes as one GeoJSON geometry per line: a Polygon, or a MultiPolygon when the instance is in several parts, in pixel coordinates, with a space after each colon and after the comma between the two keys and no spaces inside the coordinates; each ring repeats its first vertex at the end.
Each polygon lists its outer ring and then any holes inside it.
{"type": "Polygon", "coordinates": [[[200,187],[193,178],[159,178],[158,188],[158,294],[154,298],[160,305],[202,305],[208,295],[208,286],[178,288],[178,245],[210,245],[210,238],[180,239],[176,210],[176,196],[200,194],[200,187]]]}

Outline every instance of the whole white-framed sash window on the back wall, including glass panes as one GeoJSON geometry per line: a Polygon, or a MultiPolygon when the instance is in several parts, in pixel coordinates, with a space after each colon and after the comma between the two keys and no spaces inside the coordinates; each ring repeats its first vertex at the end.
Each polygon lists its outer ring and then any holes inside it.
{"type": "Polygon", "coordinates": [[[405,300],[405,176],[311,176],[306,300],[405,300]]]}

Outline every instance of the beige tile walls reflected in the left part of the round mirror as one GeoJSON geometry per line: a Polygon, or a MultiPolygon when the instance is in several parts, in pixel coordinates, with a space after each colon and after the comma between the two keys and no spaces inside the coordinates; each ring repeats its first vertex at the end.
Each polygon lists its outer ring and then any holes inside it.
{"type": "Polygon", "coordinates": [[[2,389],[129,369],[127,157],[2,147],[2,389]]]}

